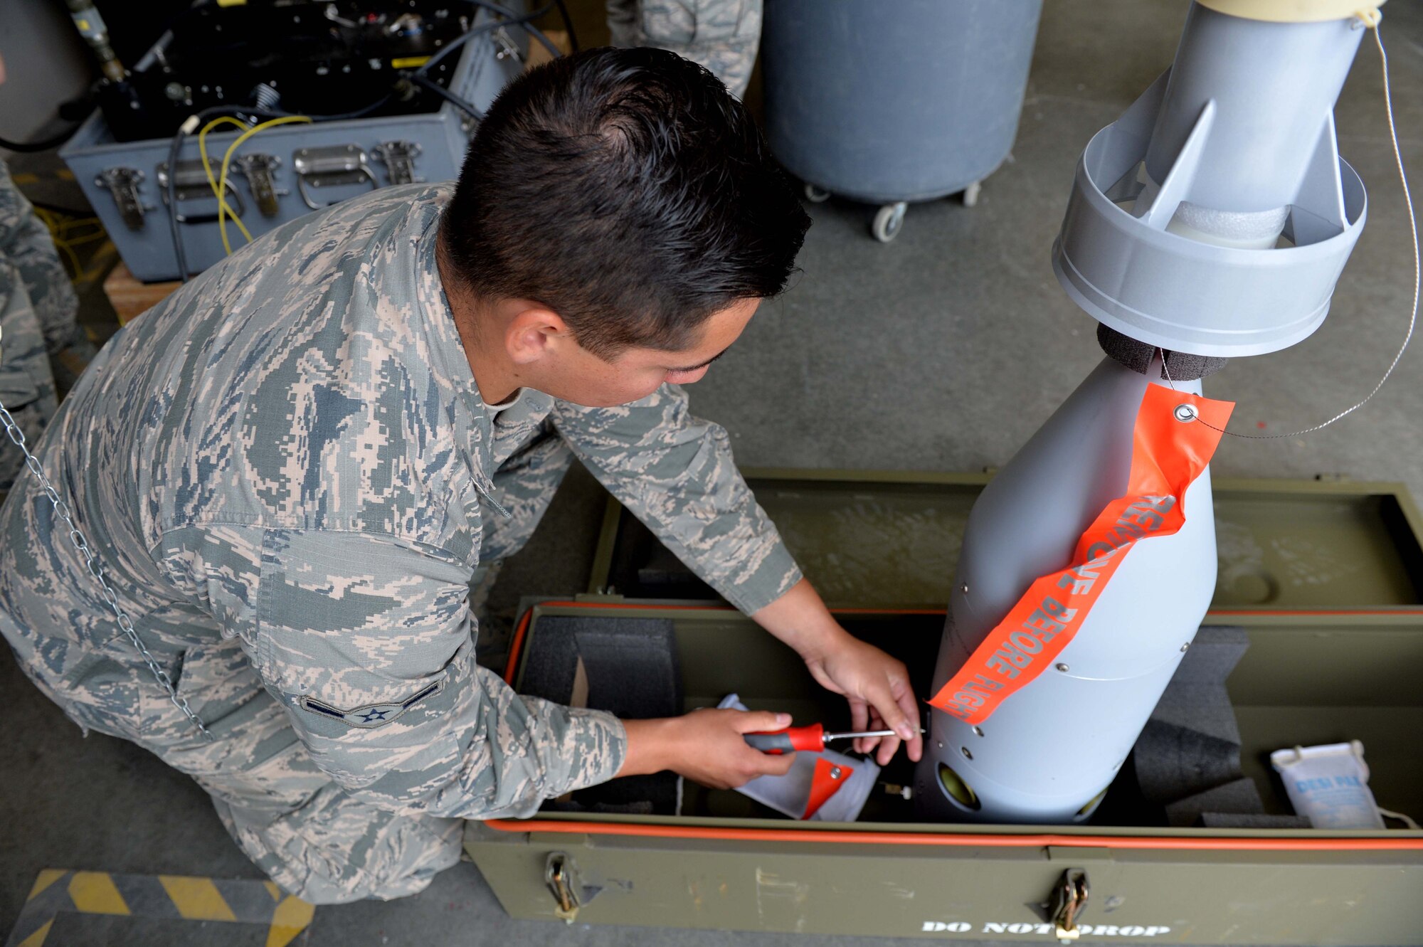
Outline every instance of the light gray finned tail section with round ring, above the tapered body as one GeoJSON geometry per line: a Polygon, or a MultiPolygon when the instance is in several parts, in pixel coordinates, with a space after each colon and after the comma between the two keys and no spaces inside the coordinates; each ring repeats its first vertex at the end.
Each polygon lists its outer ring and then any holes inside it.
{"type": "Polygon", "coordinates": [[[1350,20],[1262,23],[1192,4],[1173,68],[1077,164],[1053,245],[1067,294],[1126,336],[1198,355],[1258,355],[1313,333],[1365,223],[1333,125],[1362,34],[1350,20]],[[1214,218],[1229,236],[1232,220],[1281,208],[1295,246],[1167,230],[1214,218]]]}

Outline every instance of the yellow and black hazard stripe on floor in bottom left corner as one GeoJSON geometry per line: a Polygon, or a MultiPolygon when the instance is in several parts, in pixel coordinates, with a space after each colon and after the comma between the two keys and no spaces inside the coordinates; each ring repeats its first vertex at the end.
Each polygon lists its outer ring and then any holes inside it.
{"type": "Polygon", "coordinates": [[[44,869],[6,947],[40,947],[61,913],[263,924],[266,947],[286,947],[314,910],[273,882],[44,869]]]}

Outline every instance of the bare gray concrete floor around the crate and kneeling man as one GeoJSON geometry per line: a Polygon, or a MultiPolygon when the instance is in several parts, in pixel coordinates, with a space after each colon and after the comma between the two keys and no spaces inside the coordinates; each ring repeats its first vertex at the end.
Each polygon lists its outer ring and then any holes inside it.
{"type": "MultiPolygon", "coordinates": [[[[598,38],[599,7],[596,0],[575,7],[585,44],[598,38]]],[[[970,471],[1012,456],[1101,357],[1094,323],[1052,274],[1049,247],[1077,155],[1170,63],[1184,10],[1178,0],[1049,0],[1017,144],[985,183],[979,206],[953,199],[912,206],[889,246],[867,233],[872,208],[838,199],[811,208],[815,225],[794,289],[767,303],[694,388],[694,408],[731,431],[739,461],[970,471]]],[[[1423,168],[1423,9],[1389,4],[1385,40],[1405,161],[1423,168]]],[[[1264,432],[1292,431],[1353,404],[1405,331],[1412,247],[1368,40],[1336,117],[1340,151],[1369,188],[1369,225],[1329,320],[1311,340],[1208,381],[1208,394],[1239,404],[1241,429],[1264,422],[1264,432]]],[[[1414,350],[1359,414],[1303,438],[1228,439],[1215,471],[1405,481],[1423,496],[1420,414],[1423,355],[1414,350]]],[[[575,471],[534,543],[502,576],[497,614],[507,619],[519,594],[582,590],[601,503],[601,489],[575,471]]],[[[192,782],[128,744],[83,739],[3,654],[0,933],[44,867],[258,876],[192,782]]],[[[306,943],[871,941],[514,921],[480,873],[461,865],[417,897],[319,909],[306,943]]]]}

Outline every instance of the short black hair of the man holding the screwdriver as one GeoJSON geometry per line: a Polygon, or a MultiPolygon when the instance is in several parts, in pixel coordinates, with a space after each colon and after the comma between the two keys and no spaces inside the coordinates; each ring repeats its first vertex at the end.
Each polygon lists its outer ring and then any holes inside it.
{"type": "Polygon", "coordinates": [[[776,296],[810,218],[746,107],[703,67],[596,48],[531,70],[470,144],[441,233],[480,299],[529,299],[603,358],[680,350],[776,296]]]}

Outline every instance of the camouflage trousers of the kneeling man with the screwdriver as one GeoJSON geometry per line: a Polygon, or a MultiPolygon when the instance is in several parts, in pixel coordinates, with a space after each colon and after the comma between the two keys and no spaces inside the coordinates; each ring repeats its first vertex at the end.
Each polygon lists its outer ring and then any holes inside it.
{"type": "Polygon", "coordinates": [[[192,776],[238,846],[285,890],[313,904],[404,897],[460,860],[461,819],[377,809],[332,782],[238,640],[188,648],[176,671],[178,692],[212,742],[134,657],[120,638],[83,658],[81,684],[37,683],[80,725],[129,739],[192,776]]]}

